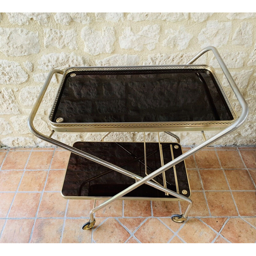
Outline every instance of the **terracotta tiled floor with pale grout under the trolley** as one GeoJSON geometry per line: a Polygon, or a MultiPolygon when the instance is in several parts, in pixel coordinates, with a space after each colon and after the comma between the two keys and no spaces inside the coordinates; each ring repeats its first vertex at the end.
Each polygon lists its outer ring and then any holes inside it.
{"type": "Polygon", "coordinates": [[[68,156],[0,149],[1,243],[256,242],[255,147],[208,147],[186,161],[194,204],[184,223],[170,218],[184,202],[125,200],[96,212],[92,230],[81,227],[94,201],[60,195],[68,156]]]}

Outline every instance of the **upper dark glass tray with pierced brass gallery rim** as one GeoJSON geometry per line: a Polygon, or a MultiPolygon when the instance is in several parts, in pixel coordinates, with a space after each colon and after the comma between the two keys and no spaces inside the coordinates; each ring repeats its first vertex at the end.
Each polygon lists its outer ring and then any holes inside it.
{"type": "Polygon", "coordinates": [[[81,67],[65,71],[49,119],[55,131],[211,130],[236,113],[207,65],[81,67]]]}

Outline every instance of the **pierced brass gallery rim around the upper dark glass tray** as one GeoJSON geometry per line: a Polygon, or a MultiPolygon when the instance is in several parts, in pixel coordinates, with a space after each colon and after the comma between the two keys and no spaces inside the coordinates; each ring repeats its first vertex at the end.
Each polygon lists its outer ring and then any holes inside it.
{"type": "Polygon", "coordinates": [[[237,119],[237,113],[233,108],[228,96],[221,85],[214,69],[209,65],[162,65],[162,66],[134,66],[134,67],[71,67],[64,71],[58,93],[55,97],[51,113],[48,117],[52,129],[57,132],[170,132],[170,131],[202,131],[202,130],[220,130],[233,124],[237,119]],[[76,71],[106,71],[106,70],[145,70],[145,69],[207,69],[215,78],[222,95],[224,96],[229,110],[234,119],[223,121],[194,121],[194,122],[123,122],[123,123],[56,123],[52,121],[57,101],[63,87],[66,76],[76,71]]]}

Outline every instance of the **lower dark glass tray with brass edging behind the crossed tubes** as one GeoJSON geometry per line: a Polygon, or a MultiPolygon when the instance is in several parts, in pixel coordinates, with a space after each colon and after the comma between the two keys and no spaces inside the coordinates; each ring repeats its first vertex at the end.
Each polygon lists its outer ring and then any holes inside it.
{"type": "MultiPolygon", "coordinates": [[[[161,165],[182,154],[178,143],[146,143],[146,166],[143,142],[76,142],[73,146],[111,164],[133,172],[141,177],[154,172],[161,165]],[[161,149],[160,149],[161,148],[161,149]],[[161,151],[162,152],[161,152],[161,151]],[[161,153],[160,153],[161,152],[161,153]]],[[[174,192],[190,197],[188,175],[184,161],[165,171],[166,187],[174,192]]],[[[155,180],[164,185],[163,175],[155,180]]],[[[135,182],[134,179],[97,164],[84,157],[71,153],[62,187],[62,196],[66,199],[109,198],[115,196],[135,182]]],[[[146,184],[132,190],[122,199],[142,200],[178,200],[146,184]]]]}

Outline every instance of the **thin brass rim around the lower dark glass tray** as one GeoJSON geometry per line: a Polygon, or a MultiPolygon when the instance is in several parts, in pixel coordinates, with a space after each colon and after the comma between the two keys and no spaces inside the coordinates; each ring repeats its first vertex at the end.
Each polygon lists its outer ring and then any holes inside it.
{"type": "MultiPolygon", "coordinates": [[[[108,142],[120,142],[120,141],[108,141],[108,142]]],[[[122,142],[126,142],[126,141],[122,141],[122,142]]],[[[129,143],[144,143],[144,141],[127,141],[129,143]]],[[[76,143],[76,142],[75,142],[76,143]]],[[[75,144],[74,143],[74,144],[75,144]]],[[[159,142],[156,142],[156,141],[147,141],[146,143],[159,143],[159,142]]],[[[174,143],[174,142],[171,142],[171,141],[164,141],[164,142],[160,142],[160,143],[174,143]]],[[[179,144],[177,142],[175,142],[176,144],[179,144]]],[[[73,146],[74,146],[73,144],[73,146]]],[[[180,144],[179,144],[180,145],[180,144]]],[[[180,145],[180,148],[181,148],[181,152],[183,154],[183,149],[180,145]]],[[[172,159],[173,159],[173,153],[172,153],[172,159]]],[[[186,169],[186,174],[187,174],[187,179],[188,179],[188,171],[187,171],[187,166],[186,166],[186,163],[184,161],[184,164],[185,164],[185,169],[186,169]]],[[[173,166],[175,168],[175,165],[173,166]]],[[[67,169],[68,167],[66,168],[66,171],[65,171],[65,176],[66,176],[66,173],[67,173],[67,169]]],[[[65,178],[63,179],[63,182],[62,182],[62,188],[63,188],[63,184],[64,184],[64,180],[65,178]]],[[[134,178],[135,182],[136,182],[136,179],[134,178]]],[[[153,179],[152,179],[153,180],[153,179]]],[[[175,178],[175,181],[176,181],[176,178],[175,178]]],[[[162,186],[160,184],[160,186],[162,186]]],[[[191,188],[190,188],[190,183],[189,183],[189,179],[188,179],[188,187],[189,187],[189,192],[190,192],[190,196],[191,196],[191,188]]],[[[107,196],[107,197],[102,197],[102,196],[64,196],[62,194],[62,190],[60,191],[60,194],[61,196],[63,196],[63,198],[65,199],[81,199],[81,200],[107,200],[109,198],[111,198],[111,196],[107,196]]],[[[187,198],[190,198],[190,196],[188,196],[187,198]]],[[[118,198],[117,200],[147,200],[147,201],[184,201],[183,199],[179,199],[179,198],[166,198],[166,197],[120,197],[118,198]]]]}

